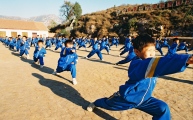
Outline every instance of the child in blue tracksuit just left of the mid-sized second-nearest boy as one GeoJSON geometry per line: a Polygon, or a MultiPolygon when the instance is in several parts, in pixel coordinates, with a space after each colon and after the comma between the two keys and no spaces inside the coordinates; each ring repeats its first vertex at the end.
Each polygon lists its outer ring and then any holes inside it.
{"type": "Polygon", "coordinates": [[[33,60],[34,63],[39,62],[40,68],[44,66],[44,57],[46,55],[46,49],[43,47],[43,40],[39,40],[37,46],[35,47],[33,60]]]}

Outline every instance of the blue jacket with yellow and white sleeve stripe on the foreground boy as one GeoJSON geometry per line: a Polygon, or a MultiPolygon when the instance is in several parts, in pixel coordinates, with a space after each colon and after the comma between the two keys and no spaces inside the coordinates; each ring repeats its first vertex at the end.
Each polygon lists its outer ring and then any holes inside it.
{"type": "Polygon", "coordinates": [[[120,96],[131,103],[131,107],[139,106],[152,96],[157,77],[184,71],[189,57],[173,54],[133,60],[128,69],[129,80],[119,88],[120,96]]]}

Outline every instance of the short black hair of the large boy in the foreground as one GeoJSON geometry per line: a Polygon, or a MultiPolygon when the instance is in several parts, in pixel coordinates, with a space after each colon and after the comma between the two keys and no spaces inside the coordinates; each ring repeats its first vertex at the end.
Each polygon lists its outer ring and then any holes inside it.
{"type": "Polygon", "coordinates": [[[146,47],[148,44],[155,44],[155,40],[148,34],[139,35],[132,42],[134,49],[137,49],[139,51],[142,51],[143,48],[146,47]]]}

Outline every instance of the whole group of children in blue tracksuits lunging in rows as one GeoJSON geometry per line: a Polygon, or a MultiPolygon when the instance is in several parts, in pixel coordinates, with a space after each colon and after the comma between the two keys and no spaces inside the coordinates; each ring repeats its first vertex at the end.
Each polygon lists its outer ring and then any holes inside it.
{"type": "MultiPolygon", "coordinates": [[[[51,42],[51,39],[52,38],[48,38],[45,40],[46,47],[48,41],[50,40],[51,42]]],[[[2,38],[0,38],[0,41],[6,46],[9,46],[10,49],[14,49],[14,44],[12,44],[14,42],[12,42],[11,37],[8,40],[9,43],[2,38]]],[[[28,50],[30,49],[30,43],[28,41],[29,40],[26,36],[23,36],[23,38],[18,36],[15,46],[16,51],[20,52],[20,56],[24,53],[27,56],[29,55],[28,50]],[[20,41],[19,48],[17,46],[17,44],[19,44],[18,41],[20,41]]],[[[58,44],[64,43],[64,46],[61,47],[56,71],[54,71],[53,74],[59,74],[63,71],[71,71],[72,82],[74,85],[77,84],[76,64],[78,62],[78,55],[76,54],[76,48],[77,46],[78,48],[81,48],[80,46],[82,46],[82,41],[86,40],[84,38],[82,40],[77,38],[62,42],[62,38],[59,37],[56,38],[56,42],[53,43],[56,48],[59,46],[58,44]]],[[[92,46],[92,50],[86,58],[90,58],[92,55],[97,53],[99,58],[102,60],[101,49],[105,49],[105,47],[109,46],[107,44],[107,37],[102,40],[98,40],[97,37],[95,37],[94,39],[90,39],[89,42],[92,46]],[[104,44],[104,46],[101,44],[104,44]]],[[[46,55],[46,49],[43,47],[43,43],[44,40],[42,39],[35,42],[35,51],[33,56],[34,63],[39,61],[42,67],[44,65],[43,57],[46,55]]],[[[172,46],[168,46],[168,48],[168,53],[165,56],[156,57],[155,51],[157,49],[157,41],[155,39],[147,34],[139,35],[136,38],[128,36],[125,45],[121,50],[123,49],[123,53],[128,52],[129,54],[124,61],[116,64],[130,62],[128,67],[129,80],[126,81],[124,85],[121,85],[119,91],[115,92],[109,98],[100,98],[91,102],[88,105],[87,110],[93,111],[95,107],[101,107],[113,111],[136,108],[152,115],[153,120],[170,120],[171,115],[169,106],[164,101],[152,97],[157,77],[183,72],[189,64],[193,64],[193,56],[190,54],[176,53],[179,49],[179,40],[177,38],[173,39],[172,46]]],[[[122,52],[120,55],[123,54],[122,52]]]]}

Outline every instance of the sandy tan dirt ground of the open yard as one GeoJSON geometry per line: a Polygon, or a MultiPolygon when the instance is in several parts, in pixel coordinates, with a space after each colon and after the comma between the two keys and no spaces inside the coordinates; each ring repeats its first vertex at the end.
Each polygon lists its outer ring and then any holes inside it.
{"type": "MultiPolygon", "coordinates": [[[[85,110],[89,102],[109,97],[128,80],[128,64],[112,65],[123,59],[117,56],[119,48],[112,47],[111,55],[103,51],[104,61],[99,61],[97,55],[86,60],[88,52],[79,50],[78,84],[74,86],[70,72],[51,74],[60,50],[47,50],[45,67],[40,69],[31,64],[32,59],[19,58],[0,43],[0,120],[151,120],[150,115],[136,109],[85,110]]],[[[29,51],[31,58],[33,51],[34,47],[29,51]]],[[[158,78],[153,96],[169,104],[172,120],[192,120],[193,66],[183,73],[158,78]]]]}

